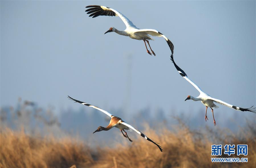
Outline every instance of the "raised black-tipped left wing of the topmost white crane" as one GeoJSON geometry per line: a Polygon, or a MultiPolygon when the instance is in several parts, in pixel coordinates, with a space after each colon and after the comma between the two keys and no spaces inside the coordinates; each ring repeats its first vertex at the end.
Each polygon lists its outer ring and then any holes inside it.
{"type": "Polygon", "coordinates": [[[137,28],[128,18],[126,18],[126,16],[124,16],[122,13],[105,7],[105,6],[99,6],[99,5],[90,5],[87,6],[86,8],[89,8],[87,10],[85,10],[85,12],[87,12],[87,14],[90,14],[90,16],[93,16],[93,18],[97,17],[97,16],[119,16],[122,21],[124,22],[124,24],[127,27],[134,27],[137,28]]]}

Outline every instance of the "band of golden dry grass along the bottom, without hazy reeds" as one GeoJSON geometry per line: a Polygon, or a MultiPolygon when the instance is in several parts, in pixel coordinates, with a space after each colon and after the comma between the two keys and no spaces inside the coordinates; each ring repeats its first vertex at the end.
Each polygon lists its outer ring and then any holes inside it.
{"type": "MultiPolygon", "coordinates": [[[[235,134],[191,131],[184,124],[175,132],[144,131],[153,141],[161,142],[163,152],[140,136],[133,138],[133,143],[124,138],[115,148],[95,149],[72,137],[31,137],[6,129],[1,132],[0,163],[1,167],[256,167],[256,133],[250,124],[235,134]],[[248,163],[212,163],[212,144],[248,144],[248,163]]],[[[228,155],[222,152],[222,157],[228,155]]]]}

